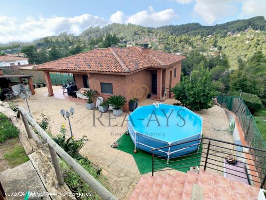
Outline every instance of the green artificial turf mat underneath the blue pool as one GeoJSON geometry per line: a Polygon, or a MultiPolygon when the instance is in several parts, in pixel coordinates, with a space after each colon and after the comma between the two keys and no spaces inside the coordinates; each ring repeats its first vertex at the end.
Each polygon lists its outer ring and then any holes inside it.
{"type": "MultiPolygon", "coordinates": [[[[152,154],[148,154],[147,152],[144,152],[142,150],[138,150],[138,152],[136,154],[134,154],[133,153],[134,143],[133,143],[132,139],[130,138],[130,135],[123,134],[118,139],[117,142],[119,144],[119,147],[117,148],[118,150],[133,155],[133,158],[134,158],[134,160],[138,166],[140,174],[145,174],[145,173],[148,173],[151,171],[152,154]]],[[[196,153],[196,152],[194,152],[194,153],[196,153]]],[[[196,165],[199,166],[200,156],[201,156],[201,154],[194,154],[194,155],[186,155],[186,156],[183,156],[181,158],[170,159],[171,163],[169,163],[168,165],[167,164],[156,165],[156,167],[160,167],[159,169],[156,169],[156,170],[160,170],[160,169],[169,167],[172,169],[179,168],[177,170],[187,172],[188,170],[190,170],[190,166],[196,166],[196,165]],[[186,160],[184,160],[184,159],[186,159],[186,160]],[[187,162],[191,162],[191,163],[186,164],[187,162]],[[183,163],[185,163],[185,164],[183,164],[183,163]],[[171,166],[171,165],[173,165],[173,166],[171,166]]],[[[167,160],[157,161],[159,159],[163,159],[163,158],[162,157],[161,158],[154,158],[155,163],[164,163],[167,161],[167,160]]]]}

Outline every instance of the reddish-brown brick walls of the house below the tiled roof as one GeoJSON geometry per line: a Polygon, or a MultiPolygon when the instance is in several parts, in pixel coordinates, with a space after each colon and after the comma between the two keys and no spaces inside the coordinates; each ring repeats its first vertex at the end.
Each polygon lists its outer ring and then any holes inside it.
{"type": "MultiPolygon", "coordinates": [[[[174,87],[180,81],[181,73],[181,62],[177,62],[173,67],[166,69],[159,69],[162,71],[162,79],[158,81],[158,84],[162,84],[162,95],[164,88],[169,88],[170,80],[172,81],[171,87],[174,87]],[[174,77],[174,70],[177,69],[177,76],[174,77]],[[170,77],[170,72],[172,71],[172,77],[170,77]]],[[[156,71],[155,71],[156,72],[156,71]]],[[[157,71],[158,72],[158,71],[157,71]]],[[[112,83],[113,93],[115,95],[122,95],[126,97],[126,104],[123,106],[123,111],[129,110],[129,100],[133,97],[137,97],[140,100],[147,97],[148,93],[151,93],[151,73],[152,70],[142,70],[140,72],[133,73],[131,75],[110,75],[110,74],[95,74],[89,73],[89,88],[92,90],[97,90],[102,96],[104,101],[108,99],[112,94],[102,93],[101,82],[102,83],[112,83]]],[[[75,82],[77,88],[83,87],[82,76],[88,76],[88,74],[74,74],[75,82]]],[[[159,95],[158,95],[159,96],[159,95]]],[[[169,92],[167,90],[167,96],[169,97],[169,92]]],[[[173,97],[173,94],[171,95],[173,97]]]]}

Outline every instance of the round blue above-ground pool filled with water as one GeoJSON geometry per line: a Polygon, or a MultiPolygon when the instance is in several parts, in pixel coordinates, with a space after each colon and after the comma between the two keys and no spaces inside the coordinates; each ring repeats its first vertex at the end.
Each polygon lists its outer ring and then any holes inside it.
{"type": "MultiPolygon", "coordinates": [[[[128,132],[135,148],[150,152],[152,149],[201,138],[202,117],[180,106],[141,106],[128,116],[128,132]]],[[[198,148],[199,140],[154,153],[170,158],[189,154],[198,148]]]]}

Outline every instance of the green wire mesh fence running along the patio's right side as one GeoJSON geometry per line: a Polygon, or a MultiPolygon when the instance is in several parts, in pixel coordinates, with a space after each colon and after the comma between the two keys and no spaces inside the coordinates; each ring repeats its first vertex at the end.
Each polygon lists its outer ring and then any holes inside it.
{"type": "MultiPolygon", "coordinates": [[[[253,148],[266,149],[266,141],[261,135],[249,108],[244,103],[243,99],[233,96],[217,96],[217,102],[225,108],[228,108],[236,114],[238,123],[241,126],[245,141],[253,148]]],[[[256,157],[255,165],[258,171],[266,173],[266,158],[263,158],[263,152],[254,150],[256,157]]]]}

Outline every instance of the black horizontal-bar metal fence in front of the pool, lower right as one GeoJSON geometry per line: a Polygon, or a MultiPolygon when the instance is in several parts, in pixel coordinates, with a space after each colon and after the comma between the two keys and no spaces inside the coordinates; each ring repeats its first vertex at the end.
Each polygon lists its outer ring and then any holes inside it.
{"type": "Polygon", "coordinates": [[[203,170],[211,169],[228,177],[244,180],[250,185],[257,185],[260,188],[265,187],[266,172],[257,170],[255,168],[256,165],[254,165],[254,163],[266,164],[257,160],[258,157],[261,157],[261,160],[266,159],[266,150],[263,149],[204,137],[150,151],[152,154],[152,176],[156,171],[178,170],[199,166],[203,170]],[[194,142],[201,144],[199,149],[191,154],[183,155],[184,152],[191,151],[190,148],[194,145],[194,142]],[[167,158],[165,155],[162,155],[162,152],[167,153],[169,147],[174,148],[175,153],[172,154],[174,155],[173,157],[167,158]],[[245,151],[243,151],[244,148],[246,149],[245,151]],[[160,152],[156,152],[158,150],[160,152]],[[234,156],[237,159],[238,164],[234,165],[234,168],[227,164],[226,159],[228,156],[234,156]]]}

